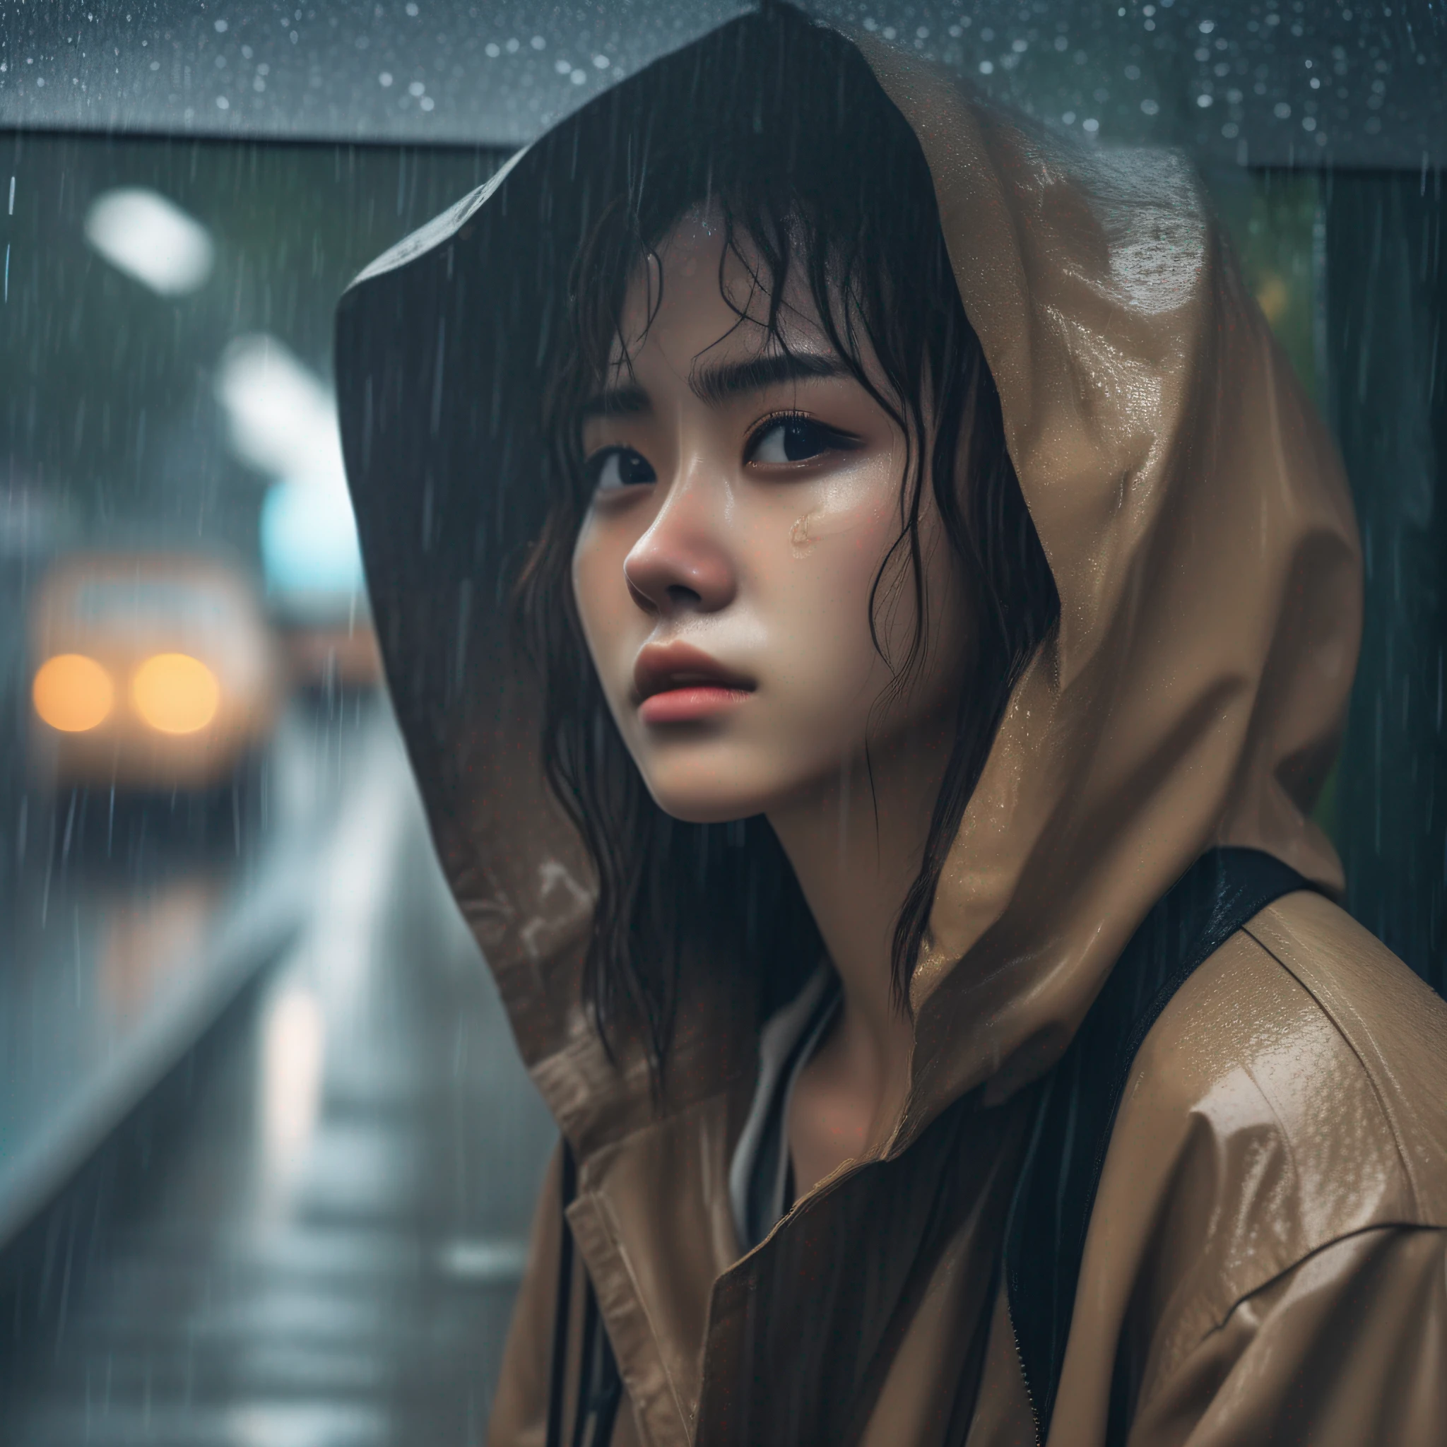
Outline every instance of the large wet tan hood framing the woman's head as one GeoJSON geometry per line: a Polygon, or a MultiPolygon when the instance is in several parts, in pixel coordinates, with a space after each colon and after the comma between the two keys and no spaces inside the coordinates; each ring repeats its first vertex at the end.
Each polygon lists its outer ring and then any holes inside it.
{"type": "MultiPolygon", "coordinates": [[[[582,1006],[593,886],[541,778],[508,638],[544,514],[541,389],[567,271],[650,113],[728,103],[741,27],[622,81],[346,294],[337,385],[386,674],[443,867],[563,1130],[590,1149],[721,1088],[757,1020],[689,977],[669,1097],[582,1006]],[[712,91],[712,94],[710,94],[712,91]]],[[[1213,845],[1328,891],[1311,820],[1356,661],[1360,577],[1321,423],[1189,166],[1077,150],[852,38],[919,137],[965,311],[1061,598],[939,883],[897,1156],[975,1087],[1059,1058],[1152,903],[1213,845]]]]}

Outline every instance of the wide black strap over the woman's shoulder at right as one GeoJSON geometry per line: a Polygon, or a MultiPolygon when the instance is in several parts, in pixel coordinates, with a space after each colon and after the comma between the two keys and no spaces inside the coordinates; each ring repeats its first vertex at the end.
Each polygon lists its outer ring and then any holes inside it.
{"type": "MultiPolygon", "coordinates": [[[[1006,1227],[1004,1276],[1040,1440],[1049,1434],[1085,1231],[1132,1062],[1171,997],[1272,900],[1312,888],[1259,849],[1211,849],[1156,903],[1046,1077],[1006,1227]]],[[[1119,1383],[1117,1383],[1119,1386],[1119,1383]]],[[[1129,1391],[1113,1392],[1123,1441],[1129,1391]]]]}

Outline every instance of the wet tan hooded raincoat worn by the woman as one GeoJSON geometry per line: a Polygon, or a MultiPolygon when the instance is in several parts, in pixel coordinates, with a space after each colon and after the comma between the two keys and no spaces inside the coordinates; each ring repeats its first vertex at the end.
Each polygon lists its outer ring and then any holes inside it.
{"type": "MultiPolygon", "coordinates": [[[[1059,631],[941,881],[881,1159],[741,1259],[728,1168],[758,1020],[726,962],[687,975],[658,1104],[641,1053],[615,1066],[590,1027],[590,878],[538,776],[498,582],[540,517],[543,363],[508,346],[551,324],[589,148],[726,43],[590,103],[363,273],[339,318],[388,676],[453,890],[577,1156],[569,1224],[625,1388],[614,1441],[1037,1441],[1000,1257],[1040,1082],[1152,904],[1239,845],[1325,893],[1234,933],[1134,1056],[1049,1443],[1447,1443],[1447,1006],[1328,901],[1340,864],[1311,822],[1356,661],[1351,504],[1179,158],[1068,153],[858,41],[933,174],[1059,631]]],[[[557,1202],[554,1171],[495,1447],[544,1441],[557,1202]]]]}

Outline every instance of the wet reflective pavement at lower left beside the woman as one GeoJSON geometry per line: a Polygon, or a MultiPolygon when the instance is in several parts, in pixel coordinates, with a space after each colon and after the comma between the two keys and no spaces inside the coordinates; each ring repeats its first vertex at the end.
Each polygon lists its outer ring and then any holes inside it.
{"type": "Polygon", "coordinates": [[[483,1437],[551,1132],[382,709],[327,767],[300,930],[7,1252],[6,1447],[483,1437]]]}

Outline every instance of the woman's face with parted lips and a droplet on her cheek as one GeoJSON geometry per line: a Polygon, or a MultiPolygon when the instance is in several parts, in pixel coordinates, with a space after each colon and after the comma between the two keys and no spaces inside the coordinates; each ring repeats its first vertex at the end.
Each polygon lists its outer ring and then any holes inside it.
{"type": "Polygon", "coordinates": [[[631,370],[614,368],[583,421],[583,632],[653,797],[695,823],[807,799],[867,741],[874,760],[922,728],[952,731],[967,661],[926,486],[928,647],[891,690],[887,660],[899,667],[915,635],[907,547],[878,593],[884,657],[870,596],[900,534],[904,437],[829,349],[806,289],[784,298],[786,355],[750,282],[716,223],[680,223],[629,289],[631,370]]]}

